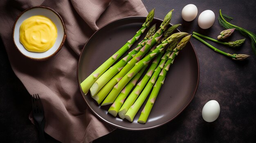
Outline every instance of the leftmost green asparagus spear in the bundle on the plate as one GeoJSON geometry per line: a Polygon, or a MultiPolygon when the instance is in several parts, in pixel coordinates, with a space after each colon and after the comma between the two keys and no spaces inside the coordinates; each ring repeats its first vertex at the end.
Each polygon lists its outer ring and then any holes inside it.
{"type": "Polygon", "coordinates": [[[139,39],[140,35],[144,33],[146,28],[150,25],[152,20],[154,19],[155,9],[148,13],[146,21],[142,24],[141,29],[137,31],[134,37],[129,40],[124,46],[122,46],[114,55],[112,55],[109,59],[106,60],[99,68],[97,68],[91,75],[89,75],[82,83],[81,88],[85,95],[88,93],[90,87],[112,64],[114,64],[119,57],[121,57],[131,46],[132,44],[139,39]]]}

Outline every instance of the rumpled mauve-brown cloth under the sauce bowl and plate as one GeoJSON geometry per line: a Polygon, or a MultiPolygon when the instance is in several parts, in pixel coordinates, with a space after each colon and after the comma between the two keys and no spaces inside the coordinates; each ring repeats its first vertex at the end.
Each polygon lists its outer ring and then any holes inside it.
{"type": "Polygon", "coordinates": [[[14,73],[30,94],[38,93],[43,101],[47,134],[63,143],[88,143],[115,129],[87,108],[79,91],[76,67],[83,46],[99,27],[132,15],[147,15],[141,0],[0,1],[0,36],[14,73]],[[17,16],[38,5],[57,11],[67,30],[61,51],[43,62],[21,55],[12,40],[17,16]]]}

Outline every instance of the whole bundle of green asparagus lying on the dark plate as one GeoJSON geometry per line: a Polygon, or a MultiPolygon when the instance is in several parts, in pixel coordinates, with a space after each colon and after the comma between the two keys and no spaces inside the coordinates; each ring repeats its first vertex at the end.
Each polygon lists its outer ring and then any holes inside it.
{"type": "Polygon", "coordinates": [[[173,64],[175,56],[178,55],[179,51],[186,46],[191,38],[191,35],[184,32],[172,34],[181,24],[173,25],[167,29],[173,12],[171,10],[167,13],[156,32],[154,24],[137,47],[114,64],[144,33],[153,20],[154,11],[154,9],[150,11],[146,22],[142,24],[141,29],[137,31],[131,40],[81,83],[81,88],[85,95],[90,90],[90,95],[98,104],[104,100],[101,106],[112,104],[108,110],[110,114],[115,117],[119,114],[121,119],[126,118],[129,121],[133,120],[153,88],[149,97],[150,100],[146,103],[143,112],[141,112],[139,123],[146,123],[157,94],[164,83],[168,68],[173,64]],[[184,38],[178,42],[182,37],[184,38]],[[165,51],[166,45],[169,46],[165,51]],[[150,63],[151,60],[153,60],[152,63],[150,63]],[[137,83],[148,66],[149,68],[144,77],[137,83]],[[134,90],[132,90],[133,88],[134,90]],[[126,97],[128,98],[126,99],[126,97]]]}

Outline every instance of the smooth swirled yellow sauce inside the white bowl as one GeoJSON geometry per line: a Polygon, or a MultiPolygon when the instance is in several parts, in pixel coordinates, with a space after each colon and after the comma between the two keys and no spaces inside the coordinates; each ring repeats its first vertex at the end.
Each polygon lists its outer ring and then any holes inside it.
{"type": "Polygon", "coordinates": [[[30,52],[43,53],[54,45],[56,25],[43,15],[27,18],[20,25],[20,43],[30,52]]]}

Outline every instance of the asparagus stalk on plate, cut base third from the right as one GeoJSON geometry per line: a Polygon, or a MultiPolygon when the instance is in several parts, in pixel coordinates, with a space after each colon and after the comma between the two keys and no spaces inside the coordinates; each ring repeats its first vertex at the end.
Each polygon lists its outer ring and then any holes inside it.
{"type": "Polygon", "coordinates": [[[157,58],[160,57],[161,61],[160,64],[159,62],[153,62],[153,64],[151,64],[150,68],[147,71],[147,74],[141,79],[141,81],[139,82],[139,84],[137,84],[137,86],[134,88],[134,90],[131,92],[131,94],[129,95],[129,97],[126,99],[126,101],[124,102],[123,106],[120,108],[118,114],[119,117],[121,119],[124,119],[124,115],[126,114],[126,112],[128,111],[128,109],[130,108],[130,106],[132,106],[132,104],[135,102],[135,100],[137,99],[137,97],[139,96],[139,94],[141,93],[141,91],[143,90],[143,88],[146,86],[146,84],[148,83],[150,77],[153,75],[154,70],[157,68],[157,65],[164,65],[164,63],[166,62],[166,60],[168,59],[168,56],[171,54],[172,49],[177,45],[177,41],[173,41],[170,46],[167,48],[165,55],[162,57],[161,54],[157,55],[157,58]]]}

